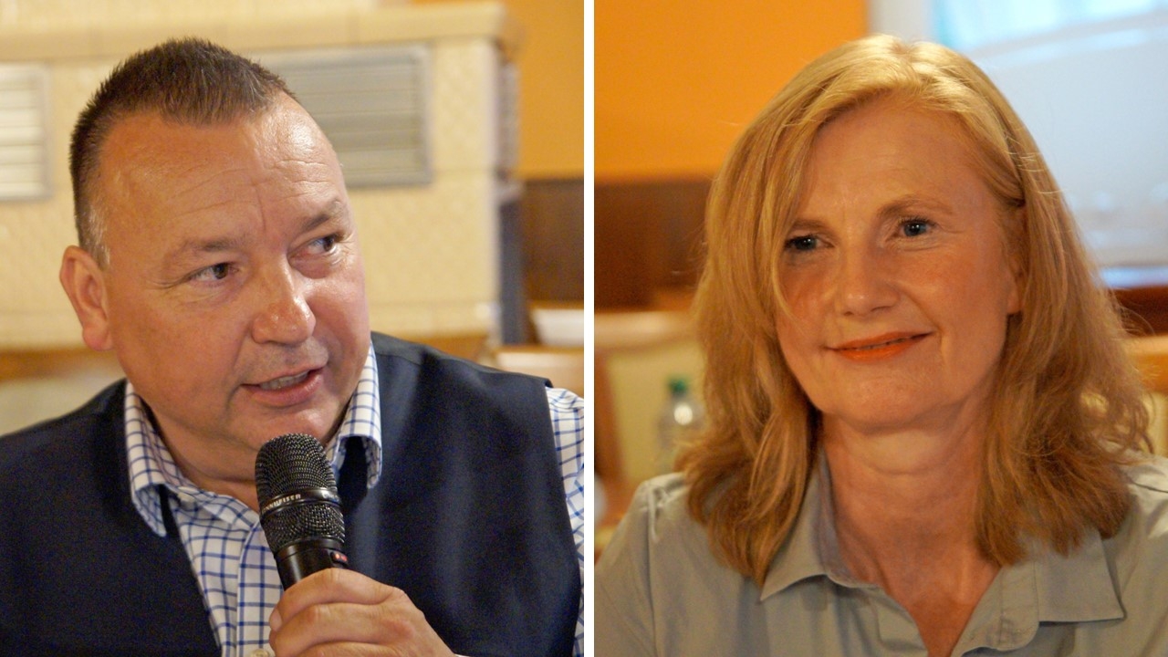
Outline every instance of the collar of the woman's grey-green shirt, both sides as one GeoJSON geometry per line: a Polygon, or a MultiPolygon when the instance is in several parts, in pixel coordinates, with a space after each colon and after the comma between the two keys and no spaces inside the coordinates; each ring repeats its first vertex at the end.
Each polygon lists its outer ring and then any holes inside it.
{"type": "MultiPolygon", "coordinates": [[[[827,578],[836,585],[872,587],[855,580],[840,556],[835,523],[832,518],[830,475],[826,459],[807,482],[799,517],[791,534],[771,562],[763,582],[760,600],[766,600],[811,578],[827,578]]],[[[1062,555],[1030,541],[1030,556],[1003,568],[982,596],[969,627],[985,629],[986,645],[1009,637],[1024,645],[1037,631],[1038,622],[1085,622],[1122,618],[1103,539],[1087,531],[1078,549],[1062,555]],[[986,604],[987,599],[997,599],[986,604]],[[1013,630],[1007,631],[1014,625],[1013,630]],[[996,637],[996,638],[992,638],[996,637]]],[[[996,645],[1003,649],[1003,645],[996,645]]]]}

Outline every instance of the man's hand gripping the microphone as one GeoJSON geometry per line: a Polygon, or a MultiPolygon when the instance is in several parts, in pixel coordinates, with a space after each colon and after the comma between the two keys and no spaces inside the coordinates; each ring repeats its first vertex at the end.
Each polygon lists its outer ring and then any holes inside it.
{"type": "Polygon", "coordinates": [[[404,592],[343,568],[290,587],[270,623],[277,657],[452,656],[404,592]]]}

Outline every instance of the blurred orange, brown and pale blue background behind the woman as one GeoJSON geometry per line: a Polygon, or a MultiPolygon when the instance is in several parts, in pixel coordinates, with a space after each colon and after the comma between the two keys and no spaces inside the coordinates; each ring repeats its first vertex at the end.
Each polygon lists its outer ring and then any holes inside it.
{"type": "MultiPolygon", "coordinates": [[[[595,16],[598,546],[700,420],[688,309],[710,179],[799,69],[869,33],[944,42],[1001,87],[1131,311],[1147,382],[1168,389],[1164,0],[596,0],[595,16]]],[[[1162,451],[1164,397],[1148,403],[1162,451]]]]}

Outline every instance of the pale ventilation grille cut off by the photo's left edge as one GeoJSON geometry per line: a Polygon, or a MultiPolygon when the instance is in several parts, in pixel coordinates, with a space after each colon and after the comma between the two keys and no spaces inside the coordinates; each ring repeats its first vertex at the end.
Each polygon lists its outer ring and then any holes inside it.
{"type": "Polygon", "coordinates": [[[0,200],[49,195],[48,72],[0,65],[0,200]]]}

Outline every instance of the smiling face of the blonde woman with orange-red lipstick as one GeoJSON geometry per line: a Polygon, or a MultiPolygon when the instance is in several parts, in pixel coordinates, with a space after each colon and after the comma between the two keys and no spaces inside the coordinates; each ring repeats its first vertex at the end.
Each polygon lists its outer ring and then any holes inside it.
{"type": "Polygon", "coordinates": [[[777,327],[829,431],[946,430],[985,408],[1018,290],[960,130],[877,101],[812,146],[777,327]]]}

